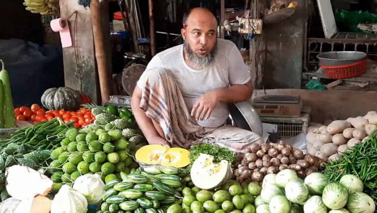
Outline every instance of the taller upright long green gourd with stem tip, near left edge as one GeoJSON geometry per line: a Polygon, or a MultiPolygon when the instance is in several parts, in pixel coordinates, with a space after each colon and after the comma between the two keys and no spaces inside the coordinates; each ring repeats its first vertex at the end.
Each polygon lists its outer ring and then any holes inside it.
{"type": "Polygon", "coordinates": [[[4,90],[4,128],[11,128],[16,126],[16,116],[14,114],[12,92],[10,90],[10,81],[8,72],[5,70],[5,64],[2,60],[2,70],[0,71],[0,80],[3,83],[4,90]]]}

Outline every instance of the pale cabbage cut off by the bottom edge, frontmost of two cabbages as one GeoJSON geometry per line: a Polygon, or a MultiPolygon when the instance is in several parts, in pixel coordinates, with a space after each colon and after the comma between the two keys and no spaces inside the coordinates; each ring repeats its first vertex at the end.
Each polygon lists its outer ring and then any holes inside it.
{"type": "Polygon", "coordinates": [[[68,185],[61,186],[51,204],[51,213],[86,213],[88,202],[84,195],[68,185]]]}

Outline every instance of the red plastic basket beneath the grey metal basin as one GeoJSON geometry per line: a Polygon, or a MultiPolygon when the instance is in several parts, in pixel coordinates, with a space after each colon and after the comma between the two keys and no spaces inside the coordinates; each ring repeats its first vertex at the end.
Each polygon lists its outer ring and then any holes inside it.
{"type": "Polygon", "coordinates": [[[367,59],[363,59],[356,63],[341,66],[324,66],[322,63],[320,63],[320,65],[328,78],[350,79],[365,73],[366,61],[367,59]]]}

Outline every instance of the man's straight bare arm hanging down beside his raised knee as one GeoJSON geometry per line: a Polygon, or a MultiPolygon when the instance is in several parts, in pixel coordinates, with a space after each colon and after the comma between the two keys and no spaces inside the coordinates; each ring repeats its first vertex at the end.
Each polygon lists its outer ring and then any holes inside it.
{"type": "Polygon", "coordinates": [[[134,113],[135,120],[138,126],[140,127],[141,131],[144,133],[146,139],[150,144],[168,144],[168,142],[164,138],[162,138],[160,134],[157,132],[152,120],[148,118],[143,109],[139,107],[140,101],[141,89],[138,86],[136,86],[131,98],[131,108],[134,113]]]}

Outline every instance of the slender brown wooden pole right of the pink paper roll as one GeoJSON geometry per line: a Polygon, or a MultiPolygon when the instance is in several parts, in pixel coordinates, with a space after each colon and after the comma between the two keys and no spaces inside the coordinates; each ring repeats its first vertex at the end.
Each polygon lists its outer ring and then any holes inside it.
{"type": "Polygon", "coordinates": [[[102,105],[110,99],[110,86],[108,79],[107,50],[104,42],[102,28],[101,3],[99,0],[90,0],[90,12],[92,14],[93,38],[95,55],[97,59],[98,76],[100,79],[102,105]]]}

